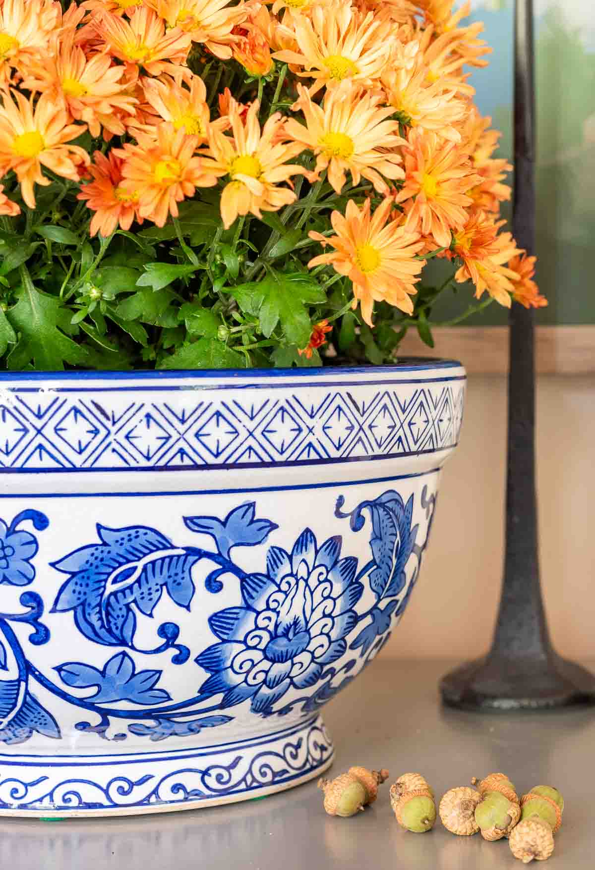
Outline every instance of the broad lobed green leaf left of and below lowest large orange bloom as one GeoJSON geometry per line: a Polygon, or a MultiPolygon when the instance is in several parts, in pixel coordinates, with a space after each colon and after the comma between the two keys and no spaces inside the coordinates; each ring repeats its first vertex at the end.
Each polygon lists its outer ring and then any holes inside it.
{"type": "Polygon", "coordinates": [[[260,318],[260,330],[266,338],[281,323],[289,344],[298,347],[308,345],[312,332],[306,305],[326,301],[324,291],[312,278],[274,270],[262,281],[239,284],[231,292],[242,311],[260,318]]]}

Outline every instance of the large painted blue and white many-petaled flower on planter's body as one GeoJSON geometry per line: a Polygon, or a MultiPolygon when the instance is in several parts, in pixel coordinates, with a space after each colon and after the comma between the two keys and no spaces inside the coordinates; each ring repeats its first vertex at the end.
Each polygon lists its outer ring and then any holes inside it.
{"type": "Polygon", "coordinates": [[[271,547],[267,573],[240,583],[244,606],[209,619],[220,643],[195,659],[211,673],[201,693],[223,693],[221,708],[250,699],[254,713],[269,714],[290,687],[315,686],[322,669],[345,653],[357,624],[357,559],[340,557],[341,538],[319,547],[309,529],[291,553],[271,547]]]}

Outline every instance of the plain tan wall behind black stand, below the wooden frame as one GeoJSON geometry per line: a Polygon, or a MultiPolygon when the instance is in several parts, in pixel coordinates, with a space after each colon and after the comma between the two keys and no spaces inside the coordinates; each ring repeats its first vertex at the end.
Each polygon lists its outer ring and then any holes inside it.
{"type": "MultiPolygon", "coordinates": [[[[443,471],[429,550],[383,655],[482,653],[502,579],[504,377],[470,378],[461,444],[443,471]]],[[[595,377],[538,379],[538,510],[551,633],[560,652],[595,655],[595,377]]]]}

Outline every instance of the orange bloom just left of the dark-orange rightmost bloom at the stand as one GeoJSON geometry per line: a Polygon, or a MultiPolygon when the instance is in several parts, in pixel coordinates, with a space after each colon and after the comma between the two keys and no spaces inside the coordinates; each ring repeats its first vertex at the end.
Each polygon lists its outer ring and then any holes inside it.
{"type": "Polygon", "coordinates": [[[447,251],[447,256],[463,260],[463,265],[456,271],[456,281],[459,284],[472,281],[477,299],[487,290],[500,305],[510,308],[511,295],[515,291],[513,282],[518,282],[520,276],[504,264],[519,256],[521,251],[510,232],[497,235],[502,224],[504,221],[495,223],[483,211],[473,212],[463,229],[456,232],[453,249],[447,251]]]}

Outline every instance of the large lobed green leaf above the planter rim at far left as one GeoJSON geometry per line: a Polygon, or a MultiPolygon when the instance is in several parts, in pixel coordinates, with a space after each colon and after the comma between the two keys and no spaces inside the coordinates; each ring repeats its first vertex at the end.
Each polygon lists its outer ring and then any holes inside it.
{"type": "Polygon", "coordinates": [[[86,359],[85,348],[64,335],[70,328],[71,311],[59,298],[48,296],[35,287],[22,289],[17,305],[7,311],[10,325],[20,332],[20,340],[7,359],[14,371],[32,363],[37,370],[61,371],[64,363],[79,365],[86,359]]]}

